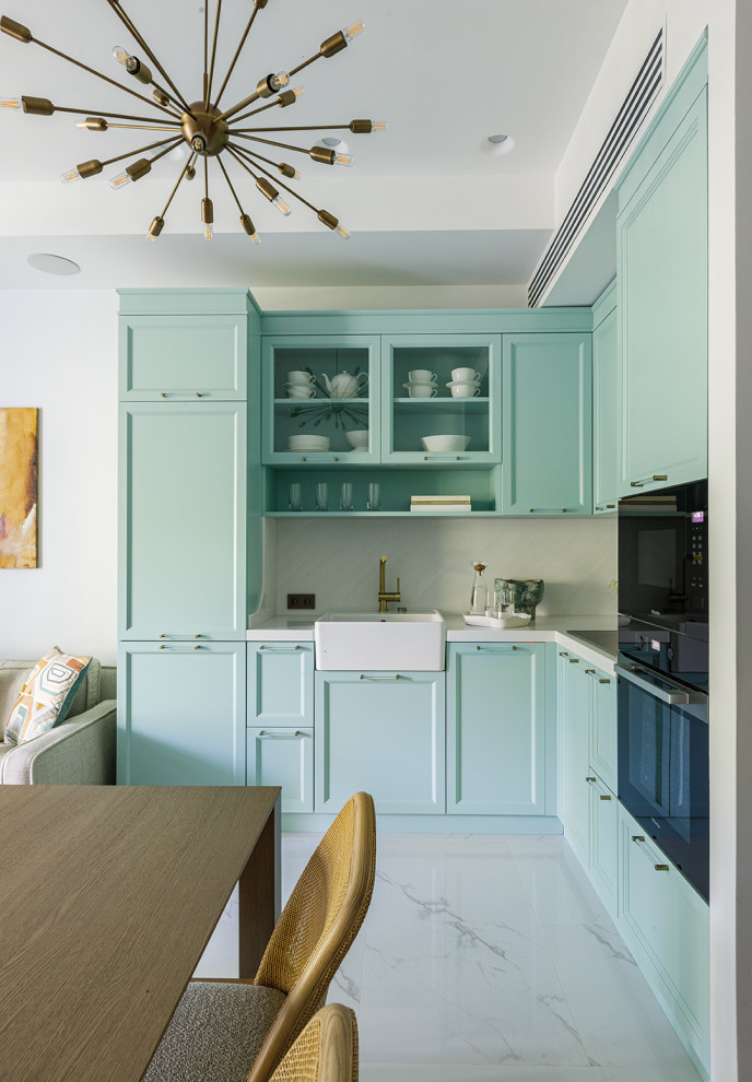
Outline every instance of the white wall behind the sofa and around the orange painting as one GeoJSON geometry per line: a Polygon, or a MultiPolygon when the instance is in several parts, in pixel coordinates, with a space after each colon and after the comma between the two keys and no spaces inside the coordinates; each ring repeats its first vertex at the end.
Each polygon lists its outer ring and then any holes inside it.
{"type": "Polygon", "coordinates": [[[0,407],[39,410],[39,566],[0,571],[0,657],[116,657],[117,296],[0,292],[0,407]]]}

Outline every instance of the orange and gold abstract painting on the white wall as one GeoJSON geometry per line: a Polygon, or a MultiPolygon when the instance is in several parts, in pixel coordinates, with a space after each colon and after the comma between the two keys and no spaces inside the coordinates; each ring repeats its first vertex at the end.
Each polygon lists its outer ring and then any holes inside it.
{"type": "Polygon", "coordinates": [[[0,568],[36,567],[37,411],[0,407],[0,568]]]}

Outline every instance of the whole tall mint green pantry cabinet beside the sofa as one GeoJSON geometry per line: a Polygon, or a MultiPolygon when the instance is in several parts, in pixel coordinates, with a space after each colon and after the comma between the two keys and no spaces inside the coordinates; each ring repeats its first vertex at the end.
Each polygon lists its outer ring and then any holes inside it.
{"type": "Polygon", "coordinates": [[[248,558],[256,548],[259,560],[260,501],[249,498],[259,478],[246,396],[249,373],[258,379],[257,321],[245,291],[121,293],[122,784],[246,780],[248,558]]]}

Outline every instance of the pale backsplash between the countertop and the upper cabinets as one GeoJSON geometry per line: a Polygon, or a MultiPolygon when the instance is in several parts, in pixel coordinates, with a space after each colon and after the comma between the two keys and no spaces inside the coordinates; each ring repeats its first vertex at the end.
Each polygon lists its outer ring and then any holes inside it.
{"type": "Polygon", "coordinates": [[[277,611],[287,593],[315,593],[316,611],[376,607],[378,557],[388,556],[387,590],[401,579],[402,604],[468,609],[472,564],[485,577],[545,580],[540,615],[611,615],[616,598],[615,518],[572,519],[279,519],[269,538],[265,595],[277,563],[277,611]]]}

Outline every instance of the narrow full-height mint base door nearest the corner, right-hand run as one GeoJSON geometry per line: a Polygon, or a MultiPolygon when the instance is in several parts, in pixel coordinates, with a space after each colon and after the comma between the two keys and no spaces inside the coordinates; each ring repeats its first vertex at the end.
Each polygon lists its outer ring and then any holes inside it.
{"type": "Polygon", "coordinates": [[[589,863],[590,678],[581,658],[559,650],[559,818],[581,863],[589,863]]]}

